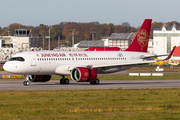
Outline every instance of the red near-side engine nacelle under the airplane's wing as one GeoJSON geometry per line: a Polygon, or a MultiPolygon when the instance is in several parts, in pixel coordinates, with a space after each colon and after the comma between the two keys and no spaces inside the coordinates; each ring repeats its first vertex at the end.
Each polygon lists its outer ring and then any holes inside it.
{"type": "Polygon", "coordinates": [[[97,71],[94,68],[77,67],[72,70],[71,78],[77,82],[93,82],[97,78],[97,71]]]}

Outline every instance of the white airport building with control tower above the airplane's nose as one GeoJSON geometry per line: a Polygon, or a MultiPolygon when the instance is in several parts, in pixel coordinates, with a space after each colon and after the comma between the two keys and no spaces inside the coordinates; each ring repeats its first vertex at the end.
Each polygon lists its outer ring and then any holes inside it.
{"type": "Polygon", "coordinates": [[[0,63],[5,63],[18,52],[42,50],[42,48],[32,48],[32,40],[29,29],[15,29],[14,36],[0,36],[0,63]]]}

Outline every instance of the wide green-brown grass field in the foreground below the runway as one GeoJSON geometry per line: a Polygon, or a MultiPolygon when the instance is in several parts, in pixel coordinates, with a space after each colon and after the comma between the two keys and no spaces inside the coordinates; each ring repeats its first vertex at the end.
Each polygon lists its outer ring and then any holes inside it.
{"type": "Polygon", "coordinates": [[[0,119],[178,120],[180,89],[1,91],[0,119]]]}

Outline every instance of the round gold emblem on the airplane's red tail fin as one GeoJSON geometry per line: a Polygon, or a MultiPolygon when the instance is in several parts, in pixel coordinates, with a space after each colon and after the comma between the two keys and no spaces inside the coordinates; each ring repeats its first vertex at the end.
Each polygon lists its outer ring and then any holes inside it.
{"type": "Polygon", "coordinates": [[[146,47],[148,45],[148,40],[149,40],[148,32],[144,29],[140,30],[137,34],[137,39],[139,45],[142,47],[141,48],[142,50],[143,47],[146,47]]]}

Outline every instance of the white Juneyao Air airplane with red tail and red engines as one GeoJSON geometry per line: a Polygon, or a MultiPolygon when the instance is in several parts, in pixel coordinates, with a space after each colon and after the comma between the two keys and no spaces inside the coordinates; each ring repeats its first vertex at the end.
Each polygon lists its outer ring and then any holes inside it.
{"type": "MultiPolygon", "coordinates": [[[[3,66],[10,73],[23,74],[31,82],[47,82],[60,75],[60,84],[76,82],[99,84],[97,74],[112,73],[154,63],[158,55],[147,53],[152,19],[145,19],[133,42],[124,51],[28,51],[13,55],[3,66]]],[[[175,47],[164,60],[170,59],[175,47]]],[[[164,55],[160,55],[164,56],[164,55]]]]}

